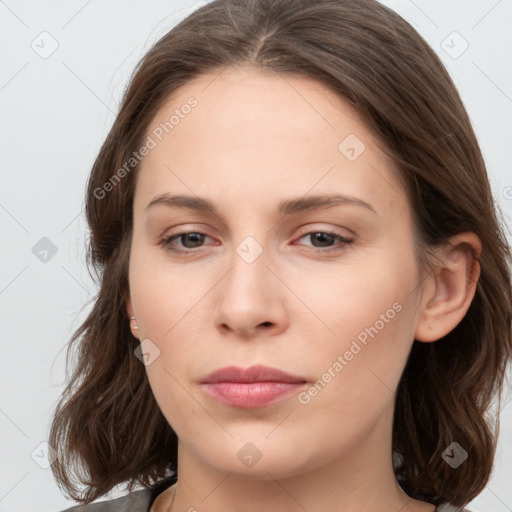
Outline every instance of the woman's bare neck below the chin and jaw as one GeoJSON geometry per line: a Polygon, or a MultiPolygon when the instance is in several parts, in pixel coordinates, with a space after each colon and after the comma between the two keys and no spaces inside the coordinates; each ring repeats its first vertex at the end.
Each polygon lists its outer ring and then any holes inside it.
{"type": "Polygon", "coordinates": [[[180,443],[172,512],[433,512],[433,505],[409,498],[399,487],[388,439],[390,432],[374,428],[364,444],[320,466],[307,461],[305,469],[289,475],[275,462],[263,466],[263,458],[252,474],[219,471],[180,443]]]}

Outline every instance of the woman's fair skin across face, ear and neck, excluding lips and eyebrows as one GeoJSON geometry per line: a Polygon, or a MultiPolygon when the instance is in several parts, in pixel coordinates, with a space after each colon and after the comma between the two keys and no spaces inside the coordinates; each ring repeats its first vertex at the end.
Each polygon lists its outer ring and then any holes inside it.
{"type": "MultiPolygon", "coordinates": [[[[393,162],[317,81],[251,67],[202,75],[169,98],[148,134],[190,96],[197,107],[138,170],[127,298],[132,332],[160,351],[146,370],[179,439],[172,511],[432,512],[396,482],[394,392],[413,340],[441,338],[466,313],[478,238],[456,235],[421,274],[393,162]],[[338,149],[349,134],[365,144],[353,161],[338,149]],[[218,213],[148,208],[165,193],[207,199],[218,213]],[[333,194],[360,202],[277,211],[284,200],[333,194]],[[160,244],[183,232],[206,236],[160,244]],[[312,235],[326,232],[336,236],[312,235]],[[248,236],[245,251],[262,250],[250,263],[237,251],[248,236]],[[378,332],[333,373],[371,326],[378,332]],[[297,392],[244,409],[200,384],[217,368],[253,364],[304,376],[302,402],[297,392]],[[307,395],[329,368],[325,387],[307,395]],[[247,443],[261,455],[250,467],[238,456],[247,443]]],[[[173,492],[152,512],[168,510],[173,492]]]]}

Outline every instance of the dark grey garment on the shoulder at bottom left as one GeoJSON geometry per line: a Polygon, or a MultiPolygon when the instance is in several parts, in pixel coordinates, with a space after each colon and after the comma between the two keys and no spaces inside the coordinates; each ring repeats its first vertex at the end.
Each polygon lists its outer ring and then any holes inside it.
{"type": "Polygon", "coordinates": [[[62,512],[148,512],[157,496],[175,481],[175,477],[165,478],[151,487],[130,492],[120,498],[78,505],[62,512]]]}

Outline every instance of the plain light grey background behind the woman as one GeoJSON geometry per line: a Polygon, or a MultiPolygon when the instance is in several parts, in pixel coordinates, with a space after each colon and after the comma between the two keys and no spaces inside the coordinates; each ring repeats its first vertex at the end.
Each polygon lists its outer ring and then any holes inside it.
{"type": "MultiPolygon", "coordinates": [[[[512,225],[512,0],[383,3],[447,65],[512,225]]],[[[202,4],[0,1],[0,512],[72,504],[42,467],[48,449],[41,443],[63,389],[65,345],[95,291],[84,263],[86,178],[133,67],[202,4]]],[[[495,472],[474,511],[512,510],[511,403],[495,472]]]]}

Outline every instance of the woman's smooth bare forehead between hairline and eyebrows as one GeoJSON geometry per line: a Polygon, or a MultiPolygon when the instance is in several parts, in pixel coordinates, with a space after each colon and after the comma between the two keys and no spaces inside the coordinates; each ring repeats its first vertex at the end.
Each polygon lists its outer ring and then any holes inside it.
{"type": "Polygon", "coordinates": [[[174,91],[146,135],[155,147],[138,170],[136,202],[193,192],[247,205],[336,189],[405,206],[393,162],[357,112],[306,76],[201,75],[174,91]]]}

